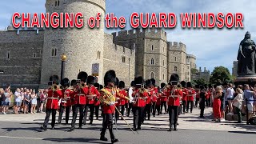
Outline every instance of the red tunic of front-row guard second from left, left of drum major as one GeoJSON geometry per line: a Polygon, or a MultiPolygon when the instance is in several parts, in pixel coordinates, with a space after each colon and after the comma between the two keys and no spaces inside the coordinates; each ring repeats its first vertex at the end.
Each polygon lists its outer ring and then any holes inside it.
{"type": "Polygon", "coordinates": [[[74,104],[86,105],[86,94],[88,94],[88,86],[74,92],[74,104]]]}

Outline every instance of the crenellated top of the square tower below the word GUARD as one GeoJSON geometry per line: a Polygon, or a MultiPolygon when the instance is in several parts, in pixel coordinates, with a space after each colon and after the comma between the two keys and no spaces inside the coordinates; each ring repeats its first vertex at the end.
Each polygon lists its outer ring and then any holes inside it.
{"type": "Polygon", "coordinates": [[[161,38],[164,41],[167,39],[167,34],[162,29],[148,28],[148,29],[133,29],[123,30],[112,33],[114,40],[134,39],[134,38],[161,38]]]}

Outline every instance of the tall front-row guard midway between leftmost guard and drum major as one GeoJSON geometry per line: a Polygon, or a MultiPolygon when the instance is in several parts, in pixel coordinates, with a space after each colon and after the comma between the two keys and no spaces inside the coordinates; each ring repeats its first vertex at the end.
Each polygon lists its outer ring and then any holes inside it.
{"type": "Polygon", "coordinates": [[[69,131],[74,130],[75,121],[77,120],[78,116],[78,110],[80,114],[78,129],[82,129],[82,119],[84,118],[83,114],[86,106],[86,94],[88,93],[88,87],[86,87],[87,76],[88,74],[84,71],[81,71],[78,74],[78,82],[74,90],[74,115],[69,131]]]}

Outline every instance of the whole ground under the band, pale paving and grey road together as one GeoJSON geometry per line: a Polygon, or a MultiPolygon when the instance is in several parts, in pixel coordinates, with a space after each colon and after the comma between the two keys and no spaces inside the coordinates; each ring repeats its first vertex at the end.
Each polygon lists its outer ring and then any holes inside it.
{"type": "MultiPolygon", "coordinates": [[[[210,110],[206,110],[208,115],[210,110]]],[[[102,121],[94,121],[94,125],[83,126],[82,130],[67,132],[70,128],[66,125],[56,126],[56,130],[41,132],[45,114],[10,114],[0,115],[0,143],[110,143],[99,141],[102,121]]],[[[127,118],[132,122],[132,118],[127,118]]],[[[116,137],[123,144],[129,143],[254,143],[256,126],[246,124],[234,124],[232,122],[215,123],[210,119],[198,118],[198,110],[193,114],[181,115],[178,122],[178,131],[168,132],[168,116],[162,114],[160,117],[151,118],[142,126],[138,134],[133,134],[123,121],[119,121],[118,131],[114,130],[116,137]]],[[[106,134],[110,138],[109,134],[106,134]]]]}

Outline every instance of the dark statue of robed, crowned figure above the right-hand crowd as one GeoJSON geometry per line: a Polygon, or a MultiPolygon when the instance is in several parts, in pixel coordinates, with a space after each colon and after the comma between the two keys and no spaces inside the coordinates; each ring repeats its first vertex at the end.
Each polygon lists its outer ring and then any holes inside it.
{"type": "Polygon", "coordinates": [[[256,76],[256,46],[247,31],[238,50],[238,77],[256,76]]]}

